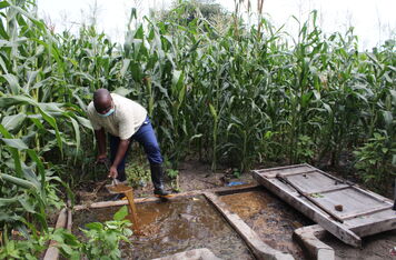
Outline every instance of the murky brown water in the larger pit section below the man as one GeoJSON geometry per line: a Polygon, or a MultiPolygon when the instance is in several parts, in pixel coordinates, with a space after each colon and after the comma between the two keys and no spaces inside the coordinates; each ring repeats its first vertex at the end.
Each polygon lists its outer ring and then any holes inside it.
{"type": "MultiPolygon", "coordinates": [[[[132,236],[121,243],[122,258],[152,259],[208,248],[221,259],[254,259],[245,242],[204,197],[179,198],[167,202],[139,203],[137,221],[145,236],[132,236]]],[[[77,211],[73,232],[85,223],[110,220],[118,208],[77,211]]]]}

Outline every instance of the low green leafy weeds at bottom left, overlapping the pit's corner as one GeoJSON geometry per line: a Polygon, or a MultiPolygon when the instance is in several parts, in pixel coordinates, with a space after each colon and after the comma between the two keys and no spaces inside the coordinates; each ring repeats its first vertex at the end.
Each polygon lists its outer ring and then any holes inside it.
{"type": "Polygon", "coordinates": [[[115,213],[111,221],[86,224],[87,229],[81,229],[85,234],[81,239],[68,230],[52,228],[40,236],[18,236],[18,239],[0,248],[0,259],[38,259],[50,240],[57,241],[56,247],[68,259],[120,259],[119,242],[130,242],[128,237],[132,234],[131,223],[125,219],[127,214],[128,208],[125,206],[115,213]]]}

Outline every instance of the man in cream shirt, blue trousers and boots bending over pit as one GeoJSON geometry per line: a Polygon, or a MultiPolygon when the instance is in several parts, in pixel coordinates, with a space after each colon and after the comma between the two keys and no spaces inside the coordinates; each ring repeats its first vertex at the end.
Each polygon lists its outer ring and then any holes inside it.
{"type": "Polygon", "coordinates": [[[106,132],[110,143],[109,178],[126,180],[125,163],[129,144],[137,140],[145,149],[150,162],[154,193],[166,197],[169,192],[164,189],[162,156],[154,132],[147,110],[139,103],[110,93],[107,89],[98,89],[93,93],[93,101],[88,106],[88,118],[95,130],[98,142],[97,162],[107,160],[106,132]]]}

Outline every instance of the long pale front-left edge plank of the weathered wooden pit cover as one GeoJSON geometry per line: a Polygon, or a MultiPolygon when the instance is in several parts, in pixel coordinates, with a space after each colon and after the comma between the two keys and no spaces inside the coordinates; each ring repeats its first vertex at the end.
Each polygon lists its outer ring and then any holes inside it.
{"type": "Polygon", "coordinates": [[[343,223],[331,220],[326,212],[318,209],[308,200],[298,198],[296,196],[297,191],[290,191],[290,188],[287,188],[285,183],[277,179],[263,178],[257,171],[253,171],[253,177],[268,190],[277,194],[308,218],[319,223],[323,228],[339,238],[345,243],[353,247],[362,247],[362,239],[356,233],[350,231],[343,223]]]}

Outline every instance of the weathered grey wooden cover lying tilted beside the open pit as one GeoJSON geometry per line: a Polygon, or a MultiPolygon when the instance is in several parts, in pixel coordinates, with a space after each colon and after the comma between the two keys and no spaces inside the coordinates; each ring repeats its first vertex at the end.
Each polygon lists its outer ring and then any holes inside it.
{"type": "Polygon", "coordinates": [[[253,177],[347,244],[396,229],[393,201],[309,164],[254,170],[253,177]]]}

